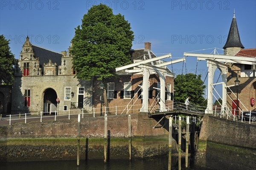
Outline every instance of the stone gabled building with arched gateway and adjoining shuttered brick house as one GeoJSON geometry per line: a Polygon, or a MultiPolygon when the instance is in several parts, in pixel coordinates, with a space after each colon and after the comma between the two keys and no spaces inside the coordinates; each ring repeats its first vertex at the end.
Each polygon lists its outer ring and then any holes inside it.
{"type": "MultiPolygon", "coordinates": [[[[131,50],[131,61],[138,62],[147,58],[155,58],[151,51],[151,43],[145,43],[144,49],[131,50]]],[[[162,62],[162,61],[157,61],[162,62]]],[[[155,63],[157,63],[155,62],[155,63]]],[[[148,63],[153,64],[154,63],[148,63]]],[[[15,65],[15,82],[12,86],[12,114],[44,112],[51,114],[55,111],[84,108],[103,108],[100,81],[78,80],[72,66],[72,55],[68,51],[52,52],[30,43],[29,37],[22,46],[20,58],[15,65]],[[58,99],[57,99],[58,98],[58,99]]],[[[173,78],[171,72],[166,74],[166,105],[170,107],[173,95],[173,78]]],[[[129,105],[129,113],[139,113],[142,107],[140,86],[142,73],[121,72],[117,78],[107,80],[107,95],[111,113],[118,107],[124,110],[129,105]]],[[[157,110],[160,100],[157,94],[160,81],[157,74],[151,74],[149,83],[149,104],[157,110]]],[[[168,107],[167,106],[167,107],[168,107]]],[[[128,107],[126,108],[128,109],[128,107]]],[[[61,112],[59,112],[61,114],[61,112]]]]}

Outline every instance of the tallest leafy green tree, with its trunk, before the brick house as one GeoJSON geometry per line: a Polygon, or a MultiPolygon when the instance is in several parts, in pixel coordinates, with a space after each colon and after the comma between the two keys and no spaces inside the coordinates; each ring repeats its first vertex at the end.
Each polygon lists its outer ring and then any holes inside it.
{"type": "MultiPolygon", "coordinates": [[[[80,80],[102,80],[115,76],[115,68],[130,62],[129,50],[134,39],[130,23],[121,14],[113,14],[106,5],[93,6],[84,14],[70,50],[73,67],[80,80]]],[[[104,102],[108,108],[106,89],[104,102]]]]}

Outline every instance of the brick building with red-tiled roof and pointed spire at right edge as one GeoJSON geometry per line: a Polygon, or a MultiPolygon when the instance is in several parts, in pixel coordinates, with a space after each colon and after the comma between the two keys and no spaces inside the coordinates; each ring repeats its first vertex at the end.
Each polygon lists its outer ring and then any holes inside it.
{"type": "MultiPolygon", "coordinates": [[[[244,49],[241,43],[239,31],[236,23],[235,13],[233,15],[230,31],[227,37],[227,42],[223,47],[225,55],[256,58],[256,49],[244,49]]],[[[235,113],[236,103],[241,110],[255,109],[255,104],[252,101],[256,98],[256,69],[255,65],[240,64],[240,63],[228,63],[229,70],[227,73],[227,106],[232,109],[232,113],[235,113]],[[235,81],[238,79],[240,84],[238,88],[235,85],[235,81]],[[238,93],[237,102],[236,96],[238,93]]]]}

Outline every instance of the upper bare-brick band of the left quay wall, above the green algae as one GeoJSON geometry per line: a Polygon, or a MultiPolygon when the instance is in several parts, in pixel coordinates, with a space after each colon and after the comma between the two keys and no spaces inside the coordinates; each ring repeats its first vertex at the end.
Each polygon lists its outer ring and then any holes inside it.
{"type": "MultiPolygon", "coordinates": [[[[159,136],[167,135],[164,128],[153,126],[156,121],[147,115],[131,115],[132,136],[159,136]]],[[[7,126],[7,138],[52,138],[52,137],[76,137],[77,120],[62,120],[57,122],[29,122],[27,124],[12,124],[7,126]]],[[[81,118],[81,137],[104,137],[104,116],[95,118],[81,118]]],[[[108,130],[114,138],[128,136],[128,115],[109,115],[108,130]]]]}

